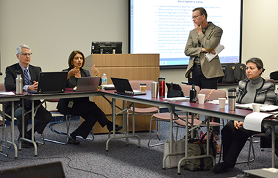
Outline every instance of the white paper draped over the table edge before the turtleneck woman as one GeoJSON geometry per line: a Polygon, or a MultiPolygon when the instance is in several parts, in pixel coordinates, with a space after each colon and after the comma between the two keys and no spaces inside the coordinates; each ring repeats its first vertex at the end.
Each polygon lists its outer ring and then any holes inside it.
{"type": "Polygon", "coordinates": [[[261,132],[261,122],[263,121],[263,118],[267,118],[269,116],[274,115],[263,112],[252,112],[245,116],[243,128],[246,130],[261,132]]]}

